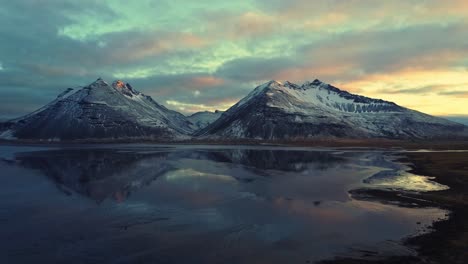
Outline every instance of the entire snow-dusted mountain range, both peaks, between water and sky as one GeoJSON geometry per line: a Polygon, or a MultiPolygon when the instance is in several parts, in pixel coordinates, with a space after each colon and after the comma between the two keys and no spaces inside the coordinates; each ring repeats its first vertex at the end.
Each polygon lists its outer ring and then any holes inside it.
{"type": "MultiPolygon", "coordinates": [[[[98,78],[0,124],[0,138],[178,141],[320,138],[467,137],[467,127],[394,102],[356,95],[318,79],[301,85],[271,80],[227,111],[190,116],[170,110],[129,83],[98,78]]],[[[467,137],[468,138],[468,137],[467,137]]]]}

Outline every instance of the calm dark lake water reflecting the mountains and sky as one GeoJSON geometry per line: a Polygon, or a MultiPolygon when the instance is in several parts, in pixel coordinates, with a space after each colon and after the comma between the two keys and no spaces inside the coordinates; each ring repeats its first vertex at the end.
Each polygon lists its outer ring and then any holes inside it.
{"type": "Polygon", "coordinates": [[[437,208],[356,188],[443,189],[391,153],[0,146],[0,263],[307,263],[413,252],[437,208]]]}

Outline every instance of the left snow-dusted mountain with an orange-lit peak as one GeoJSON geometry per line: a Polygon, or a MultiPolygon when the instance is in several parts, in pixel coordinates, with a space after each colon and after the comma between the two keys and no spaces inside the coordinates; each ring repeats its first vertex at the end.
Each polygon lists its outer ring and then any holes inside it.
{"type": "Polygon", "coordinates": [[[165,108],[122,81],[98,79],[77,91],[67,89],[41,109],[3,123],[7,139],[184,138],[193,132],[187,118],[165,108]]]}

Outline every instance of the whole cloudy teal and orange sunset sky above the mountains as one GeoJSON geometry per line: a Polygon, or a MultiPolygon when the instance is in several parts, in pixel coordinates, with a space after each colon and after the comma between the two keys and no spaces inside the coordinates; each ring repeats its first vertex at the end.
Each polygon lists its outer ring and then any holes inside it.
{"type": "Polygon", "coordinates": [[[466,0],[0,0],[0,118],[122,79],[185,114],[269,80],[468,120],[466,0]]]}

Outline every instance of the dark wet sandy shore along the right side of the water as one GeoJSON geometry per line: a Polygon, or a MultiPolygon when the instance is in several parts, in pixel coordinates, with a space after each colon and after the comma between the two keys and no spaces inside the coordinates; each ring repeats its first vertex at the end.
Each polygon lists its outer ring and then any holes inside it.
{"type": "Polygon", "coordinates": [[[468,153],[412,152],[402,154],[410,172],[432,176],[449,190],[427,193],[357,190],[355,198],[378,199],[414,206],[438,206],[451,211],[447,220],[433,224],[433,232],[408,238],[405,244],[418,256],[387,259],[341,258],[322,263],[468,263],[468,153]]]}

